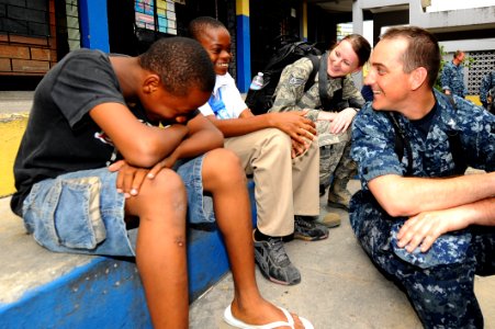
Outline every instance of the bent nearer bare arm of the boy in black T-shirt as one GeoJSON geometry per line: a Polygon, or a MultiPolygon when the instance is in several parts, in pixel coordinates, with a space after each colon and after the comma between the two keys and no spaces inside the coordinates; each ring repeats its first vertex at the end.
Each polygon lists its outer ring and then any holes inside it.
{"type": "Polygon", "coordinates": [[[184,125],[147,126],[123,104],[103,103],[89,112],[132,166],[150,168],[169,156],[189,134],[184,125]]]}

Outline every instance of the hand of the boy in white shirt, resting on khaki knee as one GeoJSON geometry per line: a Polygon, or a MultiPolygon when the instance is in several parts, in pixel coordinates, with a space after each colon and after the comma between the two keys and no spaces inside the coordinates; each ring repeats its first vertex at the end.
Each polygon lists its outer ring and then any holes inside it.
{"type": "MultiPolygon", "coordinates": [[[[307,140],[316,137],[315,123],[305,117],[307,111],[277,112],[270,113],[271,125],[301,145],[306,145],[307,140]]],[[[306,147],[307,148],[307,147],[306,147]]]]}

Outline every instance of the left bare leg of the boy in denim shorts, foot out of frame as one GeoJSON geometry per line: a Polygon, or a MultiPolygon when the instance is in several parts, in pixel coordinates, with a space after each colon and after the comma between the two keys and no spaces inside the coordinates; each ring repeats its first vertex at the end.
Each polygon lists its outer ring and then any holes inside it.
{"type": "Polygon", "coordinates": [[[188,328],[187,195],[180,177],[162,169],[125,208],[139,217],[136,263],[154,328],[188,328]]]}

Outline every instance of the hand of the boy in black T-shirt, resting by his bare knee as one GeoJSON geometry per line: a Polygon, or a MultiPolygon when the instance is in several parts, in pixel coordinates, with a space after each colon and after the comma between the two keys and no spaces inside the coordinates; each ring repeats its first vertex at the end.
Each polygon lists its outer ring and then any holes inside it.
{"type": "Polygon", "coordinates": [[[112,163],[109,170],[112,172],[119,171],[115,185],[120,193],[124,193],[125,198],[136,196],[139,193],[140,185],[143,185],[149,172],[149,169],[133,167],[125,160],[112,163]]]}

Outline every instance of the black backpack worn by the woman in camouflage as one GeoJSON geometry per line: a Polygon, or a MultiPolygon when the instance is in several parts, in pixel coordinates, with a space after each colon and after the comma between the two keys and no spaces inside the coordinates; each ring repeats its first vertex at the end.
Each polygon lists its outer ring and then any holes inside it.
{"type": "MultiPolygon", "coordinates": [[[[267,66],[262,70],[263,72],[263,86],[260,90],[249,90],[246,97],[246,104],[254,114],[263,114],[273,105],[274,91],[279,83],[280,75],[285,66],[296,61],[300,58],[307,57],[313,63],[313,71],[310,76],[310,81],[315,80],[315,76],[318,72],[319,59],[317,56],[322,55],[322,52],[315,47],[314,44],[310,44],[304,41],[294,41],[294,38],[282,35],[275,38],[274,43],[278,46],[273,46],[273,55],[268,61],[267,66]]],[[[311,88],[313,83],[306,83],[304,91],[311,88]]]]}

